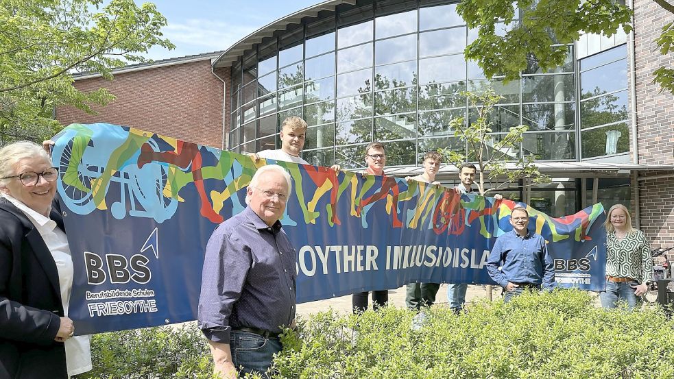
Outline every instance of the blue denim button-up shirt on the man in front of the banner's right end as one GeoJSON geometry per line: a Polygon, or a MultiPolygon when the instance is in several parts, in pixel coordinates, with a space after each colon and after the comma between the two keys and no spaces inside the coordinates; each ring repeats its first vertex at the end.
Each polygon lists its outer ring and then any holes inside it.
{"type": "Polygon", "coordinates": [[[487,271],[504,288],[508,282],[542,284],[546,289],[555,286],[552,258],[545,240],[536,233],[522,237],[512,230],[498,237],[487,260],[487,271]]]}

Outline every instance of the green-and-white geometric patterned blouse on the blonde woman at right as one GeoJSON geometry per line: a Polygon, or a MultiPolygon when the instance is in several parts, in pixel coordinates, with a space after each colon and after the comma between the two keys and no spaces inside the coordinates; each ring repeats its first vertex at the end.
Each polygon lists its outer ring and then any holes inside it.
{"type": "Polygon", "coordinates": [[[616,233],[606,235],[606,275],[632,278],[645,283],[653,278],[651,245],[641,230],[632,230],[618,240],[616,233]]]}

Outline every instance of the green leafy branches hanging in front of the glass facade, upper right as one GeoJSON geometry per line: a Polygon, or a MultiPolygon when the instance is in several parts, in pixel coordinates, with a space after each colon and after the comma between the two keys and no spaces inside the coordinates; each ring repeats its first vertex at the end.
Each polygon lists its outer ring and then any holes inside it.
{"type": "MultiPolygon", "coordinates": [[[[674,5],[654,0],[674,14],[674,5]]],[[[632,12],[616,0],[463,0],[457,12],[468,27],[479,29],[466,47],[466,59],[475,60],[488,78],[519,78],[527,62],[537,60],[544,71],[562,66],[567,44],[584,33],[612,36],[622,27],[630,32],[632,12]],[[519,10],[518,10],[519,9],[519,10]]],[[[662,28],[655,40],[660,53],[674,52],[674,23],[662,28]]],[[[655,70],[655,82],[674,93],[674,69],[655,70]]]]}

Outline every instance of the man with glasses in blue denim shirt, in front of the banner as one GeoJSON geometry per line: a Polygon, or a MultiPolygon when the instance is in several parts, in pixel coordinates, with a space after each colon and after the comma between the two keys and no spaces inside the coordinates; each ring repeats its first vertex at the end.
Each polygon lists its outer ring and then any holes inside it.
{"type": "Polygon", "coordinates": [[[552,289],[555,286],[553,261],[545,240],[527,229],[529,212],[522,207],[514,208],[510,224],[512,232],[496,239],[487,261],[489,276],[505,289],[505,302],[527,288],[552,289]]]}

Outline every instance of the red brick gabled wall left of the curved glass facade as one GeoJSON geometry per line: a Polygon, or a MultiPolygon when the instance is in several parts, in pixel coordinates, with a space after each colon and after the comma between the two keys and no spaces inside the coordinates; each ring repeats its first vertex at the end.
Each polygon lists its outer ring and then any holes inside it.
{"type": "MultiPolygon", "coordinates": [[[[215,72],[226,81],[229,90],[229,69],[215,72]]],[[[112,81],[101,77],[77,80],[75,87],[85,92],[108,88],[117,99],[105,107],[93,107],[98,114],[59,107],[56,119],[64,125],[115,123],[222,147],[223,84],[210,72],[210,59],[121,73],[112,81]]],[[[228,114],[229,101],[226,106],[228,114]]]]}

